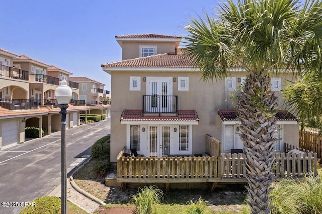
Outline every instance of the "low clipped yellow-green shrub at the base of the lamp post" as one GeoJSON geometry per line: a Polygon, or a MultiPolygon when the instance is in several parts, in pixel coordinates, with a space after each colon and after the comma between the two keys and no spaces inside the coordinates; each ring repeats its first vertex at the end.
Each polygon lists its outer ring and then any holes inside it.
{"type": "Polygon", "coordinates": [[[58,213],[61,207],[59,197],[44,196],[30,202],[34,206],[26,206],[20,214],[43,214],[43,213],[58,213]]]}

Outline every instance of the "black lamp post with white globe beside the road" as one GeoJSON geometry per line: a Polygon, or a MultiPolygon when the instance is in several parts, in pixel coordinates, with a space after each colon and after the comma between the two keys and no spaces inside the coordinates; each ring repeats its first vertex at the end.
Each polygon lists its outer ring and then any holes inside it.
{"type": "Polygon", "coordinates": [[[61,114],[61,213],[67,213],[67,172],[66,172],[66,114],[72,91],[63,79],[56,88],[55,96],[61,114]]]}

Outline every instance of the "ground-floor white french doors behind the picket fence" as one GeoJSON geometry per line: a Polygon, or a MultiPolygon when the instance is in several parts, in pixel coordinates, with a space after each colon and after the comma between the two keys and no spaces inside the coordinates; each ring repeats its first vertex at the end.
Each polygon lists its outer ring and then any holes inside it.
{"type": "Polygon", "coordinates": [[[170,126],[149,126],[150,157],[168,156],[170,153],[170,126]]]}

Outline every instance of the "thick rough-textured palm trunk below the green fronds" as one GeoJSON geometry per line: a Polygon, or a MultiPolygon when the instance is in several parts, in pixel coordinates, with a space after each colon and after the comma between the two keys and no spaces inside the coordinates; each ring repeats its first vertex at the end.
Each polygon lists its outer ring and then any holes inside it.
{"type": "Polygon", "coordinates": [[[278,139],[275,113],[277,97],[271,91],[270,77],[264,72],[250,72],[238,99],[237,117],[244,142],[248,204],[252,213],[270,213],[269,193],[274,163],[273,147],[278,139]]]}

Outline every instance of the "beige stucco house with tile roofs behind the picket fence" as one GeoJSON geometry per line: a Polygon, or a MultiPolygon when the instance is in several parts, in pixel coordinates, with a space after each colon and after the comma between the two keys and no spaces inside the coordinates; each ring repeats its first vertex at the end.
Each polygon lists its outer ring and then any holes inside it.
{"type": "MultiPolygon", "coordinates": [[[[243,149],[231,94],[243,84],[246,72],[233,69],[231,76],[212,84],[179,48],[181,37],[135,34],[116,36],[122,61],[103,64],[111,74],[111,162],[126,145],[147,157],[194,155],[206,151],[205,135],[222,141],[222,152],[243,149]]],[[[291,74],[272,77],[279,95],[291,74]]],[[[279,100],[280,108],[282,100],[279,100]]],[[[298,123],[291,114],[277,114],[277,133],[283,142],[298,146],[298,123]]]]}

